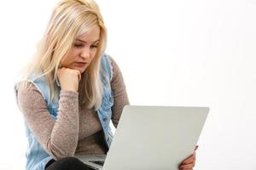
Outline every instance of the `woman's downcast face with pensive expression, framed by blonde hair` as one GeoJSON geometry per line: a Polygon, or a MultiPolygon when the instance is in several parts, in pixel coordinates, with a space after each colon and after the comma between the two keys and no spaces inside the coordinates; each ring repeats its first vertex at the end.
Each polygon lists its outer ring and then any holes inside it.
{"type": "Polygon", "coordinates": [[[77,37],[71,50],[61,60],[61,66],[83,73],[94,59],[100,39],[100,27],[93,26],[77,37]]]}

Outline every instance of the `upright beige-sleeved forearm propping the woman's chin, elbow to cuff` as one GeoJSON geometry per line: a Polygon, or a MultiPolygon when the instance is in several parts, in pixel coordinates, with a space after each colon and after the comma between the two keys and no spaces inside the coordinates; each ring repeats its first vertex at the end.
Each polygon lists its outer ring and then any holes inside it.
{"type": "Polygon", "coordinates": [[[58,116],[47,142],[55,158],[73,156],[79,139],[79,99],[77,92],[61,91],[58,116]]]}

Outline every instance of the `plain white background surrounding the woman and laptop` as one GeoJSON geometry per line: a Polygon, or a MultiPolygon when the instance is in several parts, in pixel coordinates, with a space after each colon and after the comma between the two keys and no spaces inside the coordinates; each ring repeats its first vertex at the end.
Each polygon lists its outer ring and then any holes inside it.
{"type": "MultiPolygon", "coordinates": [[[[14,83],[57,1],[0,7],[0,169],[24,169],[14,83]]],[[[132,105],[209,106],[197,170],[256,169],[256,2],[98,0],[132,105]]],[[[167,132],[164,132],[167,133],[167,132]]]]}

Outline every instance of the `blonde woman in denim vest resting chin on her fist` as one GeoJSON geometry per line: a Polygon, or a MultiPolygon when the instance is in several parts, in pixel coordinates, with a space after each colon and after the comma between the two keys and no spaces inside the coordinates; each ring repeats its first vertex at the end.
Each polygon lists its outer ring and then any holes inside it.
{"type": "MultiPolygon", "coordinates": [[[[26,169],[88,169],[75,154],[106,154],[129,105],[118,65],[107,54],[102,15],[92,0],[62,0],[38,51],[16,84],[26,121],[26,169]]],[[[195,154],[180,169],[192,169],[195,154]]]]}

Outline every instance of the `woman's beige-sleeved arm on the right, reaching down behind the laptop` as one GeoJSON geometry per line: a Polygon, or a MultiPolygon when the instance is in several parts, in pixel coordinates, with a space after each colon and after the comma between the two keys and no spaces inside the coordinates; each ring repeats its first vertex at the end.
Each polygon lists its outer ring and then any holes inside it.
{"type": "Polygon", "coordinates": [[[119,66],[111,57],[109,57],[109,59],[113,67],[113,78],[111,81],[111,88],[113,90],[112,122],[113,126],[117,127],[124,106],[129,105],[129,99],[126,94],[125,82],[119,70],[119,66]]]}

